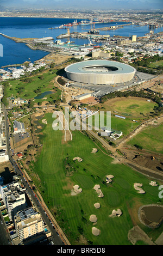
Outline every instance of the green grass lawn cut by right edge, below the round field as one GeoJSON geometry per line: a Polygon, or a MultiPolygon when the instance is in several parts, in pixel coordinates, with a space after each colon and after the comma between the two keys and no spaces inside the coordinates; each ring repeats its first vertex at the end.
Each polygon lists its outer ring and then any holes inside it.
{"type": "Polygon", "coordinates": [[[143,149],[163,154],[163,138],[162,138],[163,123],[159,126],[148,126],[132,138],[127,144],[139,144],[143,149]]]}

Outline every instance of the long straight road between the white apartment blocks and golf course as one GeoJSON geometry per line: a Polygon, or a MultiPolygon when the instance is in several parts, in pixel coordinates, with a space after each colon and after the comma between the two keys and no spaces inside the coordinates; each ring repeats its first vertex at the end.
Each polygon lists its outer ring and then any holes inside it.
{"type": "MultiPolygon", "coordinates": [[[[48,230],[51,231],[51,234],[52,234],[52,237],[50,237],[51,241],[53,241],[54,245],[63,245],[63,242],[62,242],[59,234],[57,233],[57,231],[54,229],[54,227],[52,225],[53,223],[51,222],[51,220],[49,220],[49,218],[48,218],[47,214],[45,213],[45,211],[43,210],[39,200],[35,197],[34,191],[29,186],[22,171],[18,168],[17,163],[15,162],[14,159],[12,159],[11,151],[10,151],[10,143],[9,143],[9,124],[8,124],[7,110],[5,109],[5,107],[3,107],[2,111],[3,111],[4,117],[5,117],[5,132],[6,132],[7,152],[9,155],[9,161],[11,162],[12,166],[14,167],[16,174],[20,177],[20,179],[22,180],[22,183],[26,187],[26,192],[28,194],[29,199],[30,200],[32,199],[37,210],[40,212],[40,214],[43,218],[43,221],[46,223],[48,230]]],[[[1,222],[0,222],[0,225],[1,225],[1,222]]]]}

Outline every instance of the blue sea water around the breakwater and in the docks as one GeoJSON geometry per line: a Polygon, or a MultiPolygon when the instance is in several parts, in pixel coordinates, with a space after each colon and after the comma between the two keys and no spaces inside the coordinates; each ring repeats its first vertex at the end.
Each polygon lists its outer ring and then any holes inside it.
{"type": "MultiPolygon", "coordinates": [[[[66,29],[48,29],[51,27],[59,27],[65,23],[72,23],[74,19],[53,19],[53,18],[27,18],[27,17],[0,17],[0,33],[15,36],[17,38],[42,38],[52,36],[54,41],[56,36],[66,33],[66,29]]],[[[78,22],[81,20],[78,20],[78,22]]],[[[95,24],[95,28],[108,27],[114,25],[126,24],[127,22],[110,22],[95,24]]],[[[73,26],[70,27],[70,32],[86,32],[93,25],[73,26]]],[[[149,32],[148,26],[136,27],[135,25],[124,26],[121,29],[112,31],[102,31],[100,34],[109,34],[110,36],[143,36],[149,32]]],[[[163,31],[163,27],[155,28],[154,33],[163,31]]],[[[62,39],[66,41],[67,39],[62,39]]],[[[87,39],[72,39],[77,45],[89,43],[87,39]]],[[[0,57],[0,68],[4,65],[20,64],[25,61],[34,62],[46,56],[48,52],[40,50],[31,50],[26,44],[16,43],[10,39],[0,35],[0,46],[3,46],[3,57],[0,57]]],[[[0,55],[1,51],[0,51],[0,55]]]]}

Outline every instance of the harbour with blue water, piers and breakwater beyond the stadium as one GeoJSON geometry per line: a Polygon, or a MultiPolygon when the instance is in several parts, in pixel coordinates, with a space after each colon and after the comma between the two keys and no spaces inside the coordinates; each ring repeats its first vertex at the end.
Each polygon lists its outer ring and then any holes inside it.
{"type": "MultiPolygon", "coordinates": [[[[52,18],[4,18],[0,17],[0,40],[3,45],[3,58],[0,58],[0,67],[7,65],[15,65],[30,61],[34,63],[37,59],[41,59],[47,54],[53,52],[54,48],[57,48],[54,44],[54,40],[61,35],[62,28],[63,30],[70,30],[70,35],[65,35],[61,37],[61,41],[65,44],[67,40],[73,41],[69,45],[58,45],[59,49],[66,49],[71,47],[74,48],[78,46],[89,46],[91,39],[92,44],[95,46],[101,46],[105,41],[114,39],[114,36],[130,36],[136,34],[138,36],[144,36],[146,33],[149,33],[151,28],[148,25],[140,26],[135,28],[135,23],[131,24],[129,21],[110,21],[110,22],[97,22],[87,23],[84,26],[70,26],[63,27],[62,25],[73,23],[74,19],[52,19],[52,18]],[[17,21],[22,23],[22,26],[17,27],[17,21]],[[108,26],[109,25],[109,26],[108,26]],[[116,27],[114,27],[116,26],[116,27]],[[61,28],[62,27],[62,28],[61,28]],[[112,27],[113,29],[108,28],[112,27]],[[55,28],[55,29],[48,29],[55,28]],[[117,28],[117,29],[114,29],[117,28]],[[83,31],[85,30],[85,32],[83,31]],[[98,33],[88,33],[95,29],[98,33]],[[16,35],[16,37],[15,37],[16,35]],[[40,39],[45,37],[52,37],[53,47],[34,47],[32,41],[34,39],[40,39]],[[10,39],[10,40],[9,40],[10,39]],[[12,41],[11,41],[12,40],[12,41]],[[17,44],[19,42],[20,44],[17,44]],[[27,47],[28,46],[28,47],[27,47]]],[[[82,20],[79,20],[82,21],[82,20]]],[[[95,21],[96,22],[96,21],[95,21]]],[[[154,32],[158,33],[163,31],[162,27],[154,27],[154,32]]],[[[67,34],[67,33],[65,33],[67,34]]],[[[59,39],[59,38],[57,38],[59,39]]]]}

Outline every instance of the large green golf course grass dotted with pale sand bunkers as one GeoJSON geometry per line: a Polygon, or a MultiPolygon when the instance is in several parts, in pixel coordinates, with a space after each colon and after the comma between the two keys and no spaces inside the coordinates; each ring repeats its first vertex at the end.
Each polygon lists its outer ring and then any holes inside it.
{"type": "Polygon", "coordinates": [[[161,227],[151,230],[137,218],[141,205],[157,202],[158,187],[150,186],[148,178],[129,167],[115,164],[101,150],[92,154],[92,148],[97,146],[80,131],[73,131],[72,141],[65,143],[64,132],[52,129],[52,114],[45,114],[45,118],[47,125],[40,135],[43,147],[36,162],[31,163],[29,174],[71,244],[86,244],[89,240],[89,245],[131,245],[128,231],[137,224],[150,237],[158,237],[161,227]],[[83,161],[72,161],[77,156],[83,161]],[[105,183],[106,175],[114,175],[109,185],[105,183]],[[142,183],[146,193],[137,193],[134,182],[142,183]],[[101,186],[103,198],[93,189],[97,184],[101,186]],[[72,196],[74,185],[79,185],[82,193],[72,196]],[[100,203],[101,208],[95,209],[95,203],[100,203]],[[109,217],[118,208],[122,215],[109,217]],[[92,214],[97,216],[95,224],[89,221],[92,214]],[[101,230],[100,235],[94,236],[92,227],[101,230]],[[85,239],[81,240],[81,234],[85,239]]]}

